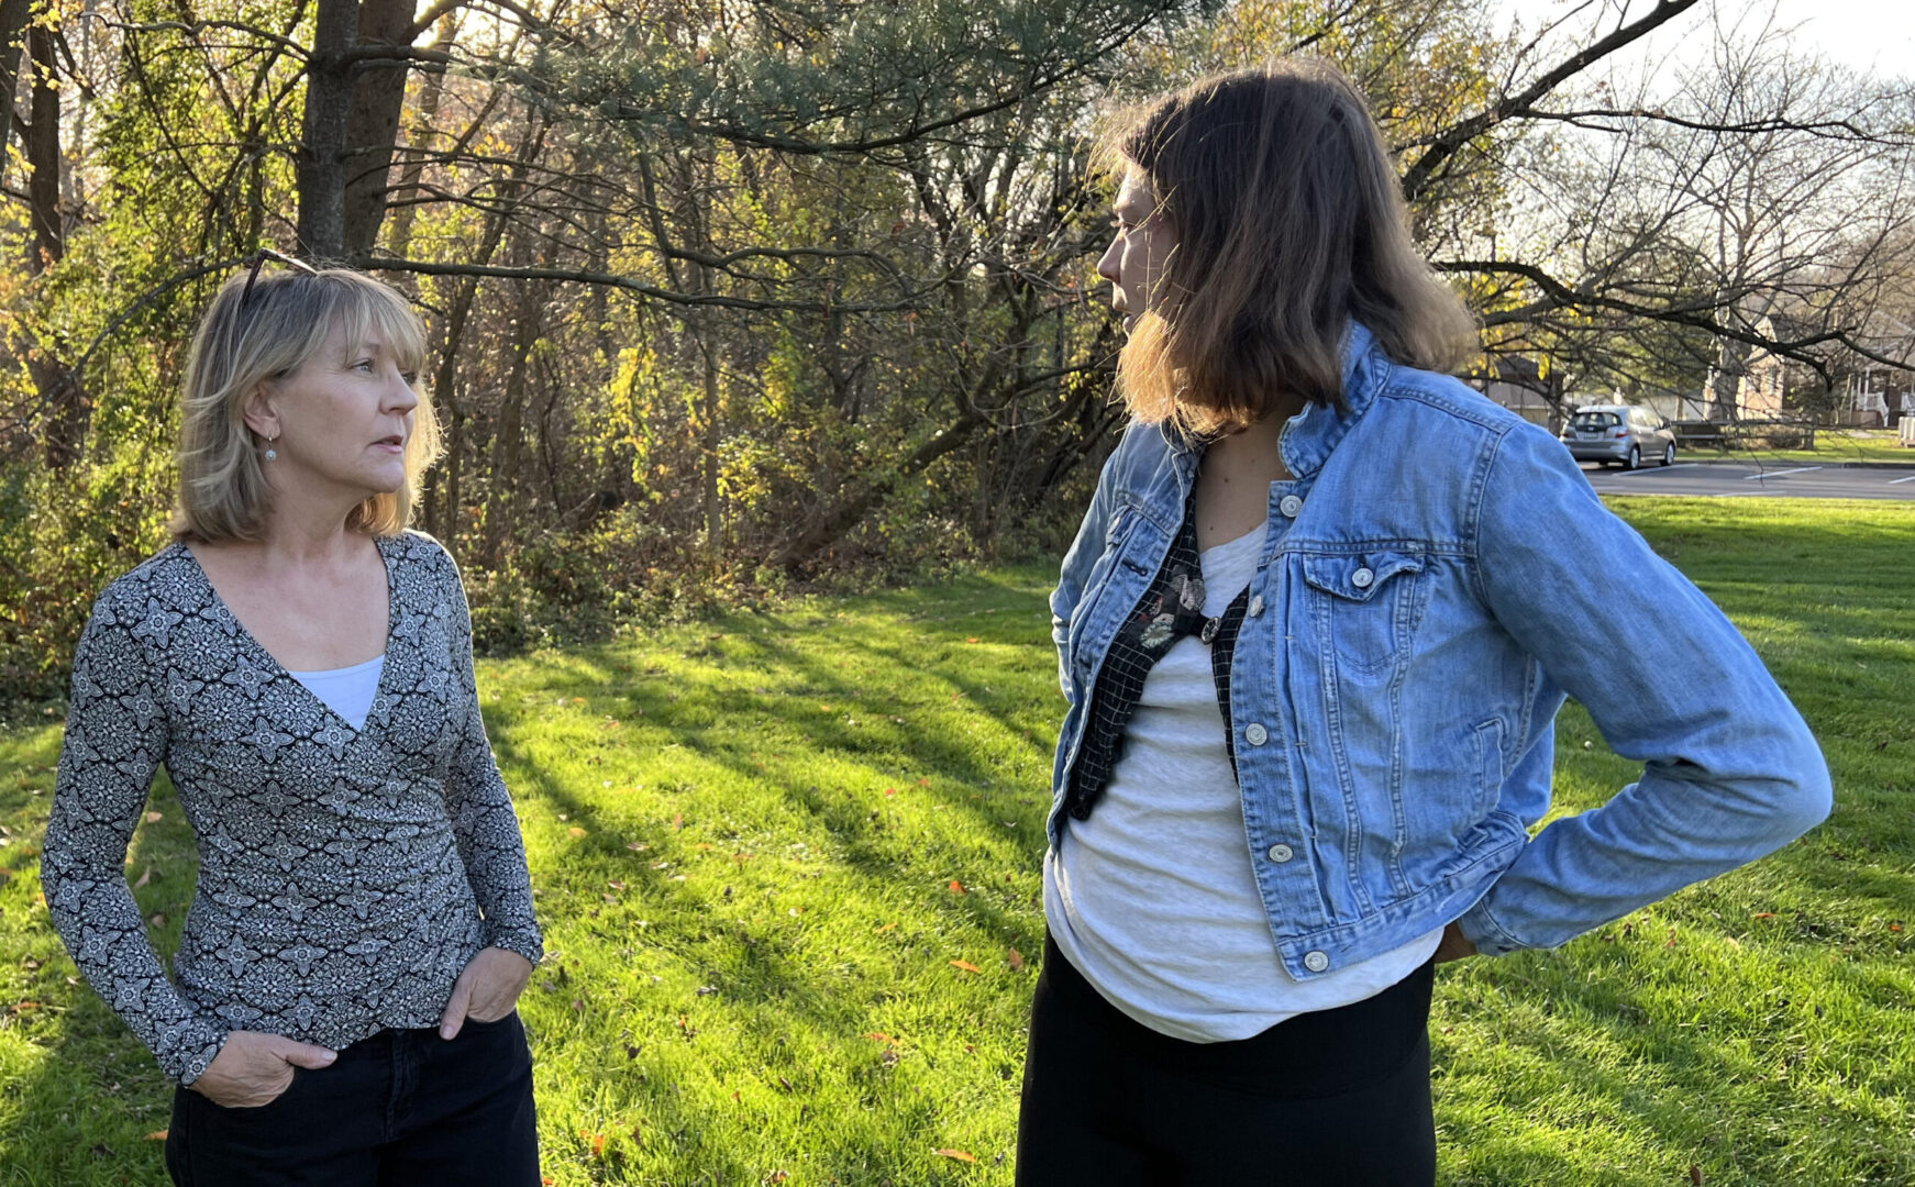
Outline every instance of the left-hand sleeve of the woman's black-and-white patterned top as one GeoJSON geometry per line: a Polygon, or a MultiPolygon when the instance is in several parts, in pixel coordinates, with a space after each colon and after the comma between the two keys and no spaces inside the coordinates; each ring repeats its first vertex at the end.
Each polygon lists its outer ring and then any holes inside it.
{"type": "MultiPolygon", "coordinates": [[[[167,615],[157,603],[147,613],[167,615]]],[[[80,636],[40,886],[86,982],[167,1076],[192,1084],[220,1053],[228,1026],[167,980],[126,886],[126,844],[167,758],[169,728],[142,626],[140,611],[115,607],[109,594],[80,636]]]]}

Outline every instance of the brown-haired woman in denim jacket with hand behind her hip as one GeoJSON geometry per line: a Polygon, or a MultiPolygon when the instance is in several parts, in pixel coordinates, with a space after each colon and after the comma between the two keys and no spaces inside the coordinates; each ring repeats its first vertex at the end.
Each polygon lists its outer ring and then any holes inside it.
{"type": "Polygon", "coordinates": [[[1358,90],[1201,80],[1116,136],[1132,412],[1051,595],[1019,1183],[1427,1187],[1432,965],[1551,948],[1815,825],[1748,643],[1446,371],[1358,90]],[[1530,837],[1574,695],[1641,777],[1530,837]]]}

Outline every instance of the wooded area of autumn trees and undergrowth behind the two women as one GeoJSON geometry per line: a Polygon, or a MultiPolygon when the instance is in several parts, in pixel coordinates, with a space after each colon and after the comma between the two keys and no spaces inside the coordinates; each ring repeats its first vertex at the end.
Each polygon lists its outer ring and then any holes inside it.
{"type": "MultiPolygon", "coordinates": [[[[260,245],[412,293],[481,641],[1057,548],[1115,440],[1099,121],[1327,56],[1486,360],[1836,391],[1915,320],[1915,92],[1699,0],[0,0],[0,699],[163,540],[260,245]],[[1672,21],[1676,82],[1607,69],[1672,21]],[[1900,320],[1900,322],[1896,322],[1900,320]],[[1890,335],[1892,337],[1892,335],[1890,335]]],[[[1729,396],[1733,402],[1733,394],[1729,396]]]]}

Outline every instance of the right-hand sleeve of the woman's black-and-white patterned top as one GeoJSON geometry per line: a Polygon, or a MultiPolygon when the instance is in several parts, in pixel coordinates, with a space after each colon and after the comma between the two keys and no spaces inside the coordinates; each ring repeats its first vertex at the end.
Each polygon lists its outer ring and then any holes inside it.
{"type": "Polygon", "coordinates": [[[465,603],[465,586],[458,567],[446,557],[452,605],[452,668],[463,689],[467,712],[454,722],[458,741],[452,747],[452,766],[446,777],[446,806],[452,812],[452,835],[465,862],[473,898],[484,913],[484,942],[488,948],[517,952],[534,965],[544,959],[538,921],[532,917],[532,877],[525,865],[525,839],[519,817],[511,810],[511,795],[498,773],[492,741],[479,716],[479,682],[473,674],[473,626],[465,603]]]}

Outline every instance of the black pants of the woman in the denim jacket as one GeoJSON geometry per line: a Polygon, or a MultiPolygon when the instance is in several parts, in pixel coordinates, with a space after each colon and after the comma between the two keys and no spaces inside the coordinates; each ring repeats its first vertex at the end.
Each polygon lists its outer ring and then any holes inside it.
{"type": "Polygon", "coordinates": [[[1017,1118],[1019,1187],[1431,1187],[1434,967],[1231,1043],[1105,1001],[1046,938],[1017,1118]]]}

